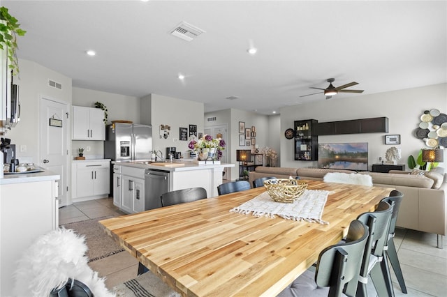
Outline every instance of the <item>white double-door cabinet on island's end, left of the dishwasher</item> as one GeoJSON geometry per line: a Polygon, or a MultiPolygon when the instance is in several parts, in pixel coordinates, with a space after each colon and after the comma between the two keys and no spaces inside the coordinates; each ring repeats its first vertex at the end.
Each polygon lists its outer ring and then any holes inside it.
{"type": "MultiPolygon", "coordinates": [[[[145,169],[122,167],[122,201],[126,213],[145,211],[145,169]]],[[[115,194],[114,194],[115,195],[115,194]]]]}

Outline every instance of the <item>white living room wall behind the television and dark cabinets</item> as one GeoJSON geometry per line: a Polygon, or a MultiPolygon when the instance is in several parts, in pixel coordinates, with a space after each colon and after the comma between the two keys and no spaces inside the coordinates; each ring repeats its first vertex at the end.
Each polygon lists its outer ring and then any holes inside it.
{"type": "MultiPolygon", "coordinates": [[[[401,144],[395,146],[402,149],[399,163],[406,165],[409,155],[416,158],[420,148],[427,147],[423,140],[413,136],[413,131],[420,123],[420,116],[426,109],[439,109],[447,114],[447,84],[344,99],[335,96],[330,100],[284,107],[281,109],[281,133],[293,127],[293,121],[296,120],[316,119],[326,122],[386,116],[389,119],[388,133],[327,135],[318,137],[318,142],[368,142],[370,168],[372,164],[379,163],[379,157],[385,158],[386,150],[391,147],[384,144],[384,135],[399,134],[401,144]]],[[[281,167],[317,166],[317,162],[293,160],[293,148],[292,141],[281,137],[281,167]]],[[[444,159],[447,160],[445,156],[444,159]]]]}

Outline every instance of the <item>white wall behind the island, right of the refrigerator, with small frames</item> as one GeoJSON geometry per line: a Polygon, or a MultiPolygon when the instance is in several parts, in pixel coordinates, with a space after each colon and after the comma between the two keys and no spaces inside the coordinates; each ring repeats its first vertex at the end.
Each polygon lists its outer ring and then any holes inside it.
{"type": "MultiPolygon", "coordinates": [[[[148,100],[144,98],[143,100],[148,100]]],[[[189,125],[197,125],[197,132],[203,133],[203,103],[182,100],[157,94],[151,94],[151,120],[152,148],[160,150],[166,155],[166,148],[175,146],[177,152],[185,155],[189,150],[189,141],[179,141],[179,128],[188,128],[189,125]],[[160,138],[160,125],[170,125],[170,138],[160,138]]],[[[189,157],[189,154],[186,155],[189,157]]]]}

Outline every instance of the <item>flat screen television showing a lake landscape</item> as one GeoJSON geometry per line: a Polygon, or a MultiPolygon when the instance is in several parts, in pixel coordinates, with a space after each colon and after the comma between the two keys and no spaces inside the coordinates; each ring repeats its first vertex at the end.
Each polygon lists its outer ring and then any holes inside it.
{"type": "Polygon", "coordinates": [[[368,170],[368,143],[318,144],[318,167],[368,170]]]}

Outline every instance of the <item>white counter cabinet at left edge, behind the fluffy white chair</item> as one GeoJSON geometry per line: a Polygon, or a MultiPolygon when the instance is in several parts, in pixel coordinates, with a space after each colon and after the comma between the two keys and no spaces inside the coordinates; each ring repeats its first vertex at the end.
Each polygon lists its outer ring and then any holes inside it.
{"type": "Polygon", "coordinates": [[[52,172],[0,178],[0,296],[12,296],[15,261],[24,250],[59,227],[59,179],[52,172]]]}

